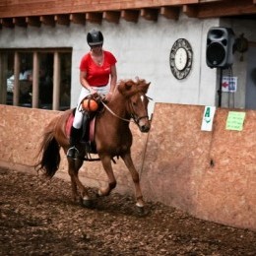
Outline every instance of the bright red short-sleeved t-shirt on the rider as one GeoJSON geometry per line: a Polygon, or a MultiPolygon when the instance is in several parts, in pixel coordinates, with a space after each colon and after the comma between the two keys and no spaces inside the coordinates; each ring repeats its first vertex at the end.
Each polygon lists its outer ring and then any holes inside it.
{"type": "Polygon", "coordinates": [[[116,63],[114,55],[109,51],[103,51],[102,66],[96,65],[90,53],[87,53],[81,60],[80,70],[87,72],[87,81],[90,86],[98,87],[108,84],[111,66],[116,63]]]}

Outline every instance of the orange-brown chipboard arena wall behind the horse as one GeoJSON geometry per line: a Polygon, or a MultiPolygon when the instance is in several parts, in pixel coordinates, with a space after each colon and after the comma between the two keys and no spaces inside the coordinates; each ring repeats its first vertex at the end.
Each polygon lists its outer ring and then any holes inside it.
{"type": "MultiPolygon", "coordinates": [[[[245,111],[242,131],[225,129],[228,111],[217,109],[212,132],[201,131],[204,106],[157,103],[149,134],[131,123],[132,157],[146,200],[159,201],[220,224],[256,230],[256,111],[245,111]]],[[[36,174],[33,164],[43,128],[58,111],[0,105],[0,166],[36,174]]],[[[69,179],[62,160],[57,177],[69,179]]],[[[130,173],[114,165],[116,191],[133,194],[130,173]]],[[[85,162],[87,186],[106,181],[100,162],[85,162]]]]}

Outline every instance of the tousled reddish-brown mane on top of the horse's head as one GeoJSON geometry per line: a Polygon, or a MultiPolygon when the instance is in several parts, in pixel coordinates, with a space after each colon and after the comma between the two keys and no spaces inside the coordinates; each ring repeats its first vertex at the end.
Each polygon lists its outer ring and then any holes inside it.
{"type": "Polygon", "coordinates": [[[134,96],[138,93],[147,94],[151,83],[147,83],[145,79],[136,78],[136,80],[120,80],[117,84],[117,90],[123,96],[134,96]]]}

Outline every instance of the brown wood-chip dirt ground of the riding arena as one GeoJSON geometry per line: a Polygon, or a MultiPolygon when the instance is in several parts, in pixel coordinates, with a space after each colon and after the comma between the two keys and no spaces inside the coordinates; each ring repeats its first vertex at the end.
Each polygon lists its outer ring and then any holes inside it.
{"type": "Polygon", "coordinates": [[[6,169],[0,188],[0,255],[256,255],[256,232],[159,203],[138,217],[132,197],[112,193],[86,209],[69,182],[6,169]]]}

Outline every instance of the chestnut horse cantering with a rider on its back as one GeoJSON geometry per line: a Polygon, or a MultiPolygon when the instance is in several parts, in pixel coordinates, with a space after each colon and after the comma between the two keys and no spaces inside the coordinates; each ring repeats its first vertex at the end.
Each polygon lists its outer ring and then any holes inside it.
{"type": "MultiPolygon", "coordinates": [[[[121,80],[107,103],[103,100],[103,107],[96,113],[95,120],[95,145],[96,154],[108,178],[107,186],[99,187],[97,196],[107,196],[116,187],[116,179],[113,173],[111,161],[113,158],[121,158],[131,173],[135,186],[136,209],[140,213],[145,211],[140,177],[131,158],[131,146],[133,136],[129,128],[130,121],[134,121],[142,133],[149,132],[151,121],[148,115],[148,103],[150,97],[146,96],[151,83],[144,79],[121,80]]],[[[35,164],[37,171],[42,171],[46,177],[51,178],[57,171],[60,163],[60,148],[67,154],[70,147],[66,125],[74,109],[68,109],[63,114],[53,118],[45,127],[43,138],[39,147],[40,160],[35,164]]],[[[79,201],[83,206],[90,207],[92,199],[88,189],[79,179],[86,149],[83,143],[78,145],[80,158],[68,159],[68,173],[71,178],[72,195],[74,201],[79,201]]],[[[114,160],[113,160],[114,161],[114,160]]]]}

